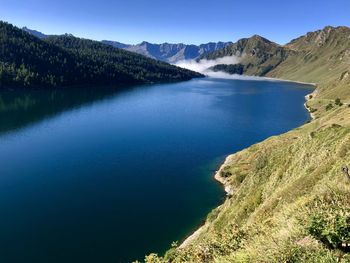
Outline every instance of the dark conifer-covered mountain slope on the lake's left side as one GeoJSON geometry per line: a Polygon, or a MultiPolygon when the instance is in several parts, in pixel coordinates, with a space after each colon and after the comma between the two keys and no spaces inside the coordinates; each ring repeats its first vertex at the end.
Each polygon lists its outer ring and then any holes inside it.
{"type": "Polygon", "coordinates": [[[41,40],[5,22],[0,22],[0,47],[0,86],[117,85],[201,76],[72,35],[41,40]]]}

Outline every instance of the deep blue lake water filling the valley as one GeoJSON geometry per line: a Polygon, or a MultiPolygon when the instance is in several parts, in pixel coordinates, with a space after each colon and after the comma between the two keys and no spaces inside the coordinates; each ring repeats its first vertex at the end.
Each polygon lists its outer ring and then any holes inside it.
{"type": "Polygon", "coordinates": [[[130,262],[182,241],[224,198],[225,156],[303,124],[305,85],[0,92],[0,262],[130,262]]]}

